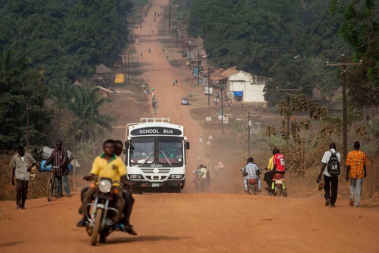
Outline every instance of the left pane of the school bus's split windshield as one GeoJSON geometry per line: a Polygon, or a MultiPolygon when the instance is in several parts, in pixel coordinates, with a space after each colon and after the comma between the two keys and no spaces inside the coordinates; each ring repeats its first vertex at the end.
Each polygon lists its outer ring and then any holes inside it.
{"type": "Polygon", "coordinates": [[[130,162],[134,164],[152,163],[154,158],[154,137],[136,137],[131,140],[130,162]]]}

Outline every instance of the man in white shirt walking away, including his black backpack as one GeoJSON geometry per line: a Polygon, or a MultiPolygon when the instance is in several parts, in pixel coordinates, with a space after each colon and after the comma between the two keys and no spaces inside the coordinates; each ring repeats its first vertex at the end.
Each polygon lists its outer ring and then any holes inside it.
{"type": "Polygon", "coordinates": [[[324,174],[325,205],[335,207],[338,193],[338,174],[341,154],[336,151],[335,143],[329,145],[330,151],[324,153],[321,159],[321,171],[318,178],[324,174]],[[331,175],[332,173],[332,175],[331,175]]]}

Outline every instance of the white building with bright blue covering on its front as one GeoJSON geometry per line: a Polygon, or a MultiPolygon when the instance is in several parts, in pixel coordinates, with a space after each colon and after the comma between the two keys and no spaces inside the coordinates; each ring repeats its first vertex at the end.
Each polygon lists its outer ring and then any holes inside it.
{"type": "Polygon", "coordinates": [[[232,101],[265,102],[263,89],[268,80],[268,77],[253,76],[240,70],[228,78],[228,98],[232,101]]]}

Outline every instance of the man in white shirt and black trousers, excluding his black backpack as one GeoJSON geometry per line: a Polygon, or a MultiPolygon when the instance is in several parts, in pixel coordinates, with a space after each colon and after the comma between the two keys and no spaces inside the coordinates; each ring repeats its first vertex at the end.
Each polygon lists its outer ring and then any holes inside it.
{"type": "Polygon", "coordinates": [[[324,156],[321,159],[321,171],[318,177],[321,177],[324,175],[324,191],[325,191],[325,205],[330,205],[331,207],[335,207],[335,202],[337,200],[337,193],[338,193],[338,176],[331,176],[328,173],[328,162],[331,159],[332,153],[334,153],[337,158],[338,162],[341,161],[341,154],[336,152],[335,143],[331,142],[329,145],[330,151],[327,151],[324,153],[324,156]]]}

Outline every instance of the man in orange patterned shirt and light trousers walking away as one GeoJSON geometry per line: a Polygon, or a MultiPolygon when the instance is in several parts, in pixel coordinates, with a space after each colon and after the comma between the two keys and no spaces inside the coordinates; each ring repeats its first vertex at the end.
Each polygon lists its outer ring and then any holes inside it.
{"type": "Polygon", "coordinates": [[[354,205],[354,207],[359,206],[363,178],[367,176],[367,157],[359,148],[360,144],[356,141],[354,151],[349,152],[346,158],[346,181],[350,180],[350,205],[354,205]]]}

